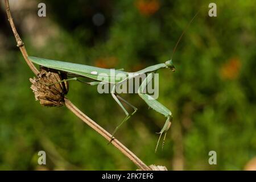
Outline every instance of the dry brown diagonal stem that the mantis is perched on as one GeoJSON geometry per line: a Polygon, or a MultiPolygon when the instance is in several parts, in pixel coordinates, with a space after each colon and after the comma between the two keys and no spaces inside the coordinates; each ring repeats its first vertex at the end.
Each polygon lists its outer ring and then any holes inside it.
{"type": "MultiPolygon", "coordinates": [[[[30,67],[31,71],[34,72],[35,75],[37,76],[40,72],[38,71],[38,69],[36,69],[35,65],[33,63],[31,63],[30,60],[28,60],[28,54],[27,54],[26,48],[24,46],[24,43],[22,42],[22,39],[20,39],[18,32],[16,31],[15,24],[14,24],[13,18],[11,16],[9,0],[5,0],[5,7],[6,7],[6,13],[7,13],[10,25],[11,25],[11,29],[13,30],[13,33],[14,33],[14,36],[16,39],[17,46],[19,47],[20,52],[22,52],[24,60],[30,67]]],[[[65,106],[67,106],[67,108],[69,110],[71,110],[77,117],[82,119],[82,121],[84,121],[87,125],[92,127],[93,130],[97,131],[98,134],[102,135],[108,141],[111,140],[112,135],[110,133],[108,133],[108,131],[103,129],[100,125],[98,125],[96,122],[94,122],[92,119],[90,119],[87,115],[82,113],[82,111],[80,111],[74,104],[72,104],[71,101],[68,100],[68,98],[65,97],[64,101],[65,101],[65,106]]],[[[112,140],[111,143],[143,171],[152,170],[152,168],[150,168],[146,164],[144,164],[141,159],[139,159],[135,154],[133,154],[133,152],[131,152],[127,147],[125,147],[117,139],[112,140]]]]}

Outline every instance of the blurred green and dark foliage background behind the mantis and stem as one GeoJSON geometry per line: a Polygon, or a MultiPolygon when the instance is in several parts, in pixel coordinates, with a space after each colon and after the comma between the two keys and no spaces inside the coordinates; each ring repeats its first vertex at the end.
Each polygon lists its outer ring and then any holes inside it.
{"type": "MultiPolygon", "coordinates": [[[[138,112],[115,137],[146,164],[169,170],[241,170],[256,166],[256,4],[253,0],[10,1],[28,54],[102,68],[138,71],[170,59],[176,72],[159,71],[158,101],[174,116],[164,149],[154,152],[165,118],[137,94],[122,97],[138,112]],[[209,165],[209,151],[217,165],[209,165]]],[[[137,167],[65,107],[35,101],[23,60],[0,4],[0,169],[125,170],[137,167]],[[47,165],[38,165],[38,151],[47,165]]],[[[113,132],[125,117],[110,94],[71,82],[67,96],[113,132]]],[[[131,111],[131,110],[129,110],[131,111]]]]}

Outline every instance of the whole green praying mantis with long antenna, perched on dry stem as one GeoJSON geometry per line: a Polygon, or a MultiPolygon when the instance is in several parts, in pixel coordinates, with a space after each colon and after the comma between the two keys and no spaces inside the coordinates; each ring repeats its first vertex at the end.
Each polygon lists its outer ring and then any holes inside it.
{"type": "MultiPolygon", "coordinates": [[[[199,11],[196,13],[196,15],[198,13],[199,13],[199,11]]],[[[179,40],[177,40],[177,43],[174,47],[174,51],[172,52],[172,56],[174,55],[177,45],[179,44],[182,36],[184,35],[184,32],[187,31],[187,28],[192,23],[193,19],[195,19],[196,15],[193,16],[191,21],[187,24],[187,27],[185,27],[185,30],[180,35],[179,40]]],[[[65,61],[49,60],[49,59],[43,59],[43,58],[39,58],[39,57],[32,57],[32,56],[28,56],[28,59],[30,61],[32,61],[32,63],[39,64],[43,67],[55,69],[60,72],[68,73],[69,75],[76,76],[76,77],[68,78],[68,79],[65,79],[65,80],[62,80],[59,82],[76,80],[76,81],[84,82],[85,84],[88,84],[88,85],[113,84],[114,86],[113,86],[112,92],[111,92],[112,97],[117,102],[117,104],[122,108],[122,110],[125,112],[126,117],[125,117],[125,119],[123,119],[123,121],[117,127],[115,127],[115,130],[112,134],[112,140],[114,139],[113,136],[114,136],[115,132],[119,129],[119,127],[125,121],[127,121],[127,119],[129,119],[132,115],[134,115],[135,112],[138,110],[137,107],[131,105],[129,102],[127,102],[121,96],[119,96],[117,93],[115,93],[114,92],[115,87],[117,87],[119,84],[122,84],[123,82],[125,82],[127,80],[133,79],[142,74],[146,74],[147,75],[146,78],[142,81],[141,85],[139,85],[138,95],[139,95],[139,97],[142,98],[142,100],[144,100],[146,102],[146,104],[149,107],[151,107],[153,110],[157,111],[158,113],[164,115],[164,117],[167,118],[166,122],[164,123],[164,126],[162,127],[160,132],[157,133],[157,134],[160,134],[160,136],[159,136],[158,142],[156,144],[156,148],[155,148],[155,151],[156,151],[158,148],[160,138],[162,137],[163,134],[164,134],[164,138],[163,138],[163,144],[164,144],[164,140],[166,138],[166,133],[171,126],[172,113],[169,109],[167,109],[166,106],[160,104],[160,102],[156,101],[154,98],[152,98],[147,93],[144,93],[143,90],[147,87],[147,84],[152,81],[152,79],[154,78],[154,73],[156,71],[158,71],[159,69],[167,68],[167,69],[171,69],[171,71],[173,71],[173,72],[175,71],[174,64],[172,63],[172,56],[171,56],[171,60],[168,60],[165,63],[152,65],[150,67],[142,69],[141,71],[131,73],[131,72],[125,72],[122,69],[117,69],[114,71],[114,74],[112,73],[112,69],[98,68],[98,67],[92,67],[89,65],[68,63],[65,61]],[[103,76],[103,80],[102,80],[102,76],[103,76]],[[86,78],[92,79],[93,81],[85,82],[85,81],[79,80],[79,78],[77,78],[77,77],[86,77],[86,78]],[[124,102],[125,104],[129,105],[130,107],[132,107],[134,109],[133,113],[130,114],[125,109],[125,107],[122,105],[121,101],[124,102]]],[[[110,142],[112,140],[110,140],[110,142]]]]}

